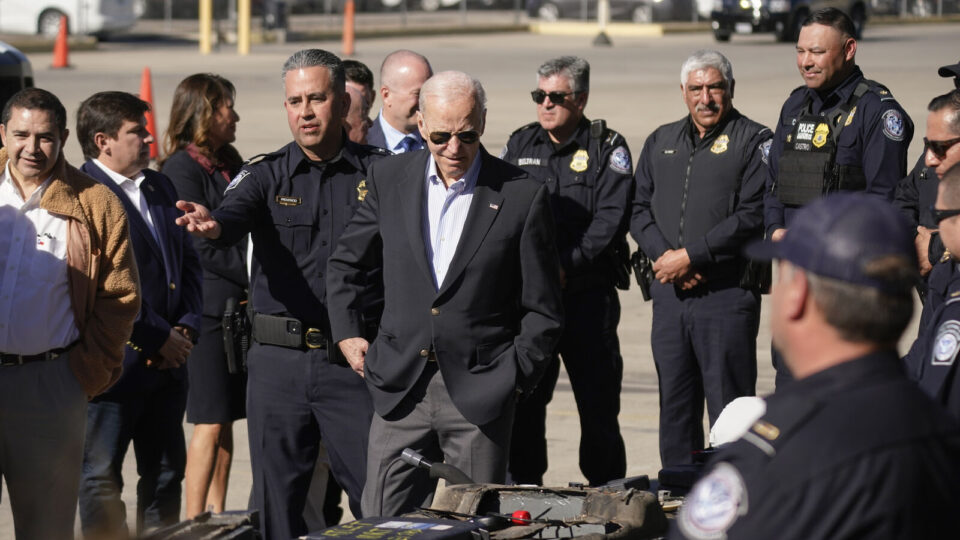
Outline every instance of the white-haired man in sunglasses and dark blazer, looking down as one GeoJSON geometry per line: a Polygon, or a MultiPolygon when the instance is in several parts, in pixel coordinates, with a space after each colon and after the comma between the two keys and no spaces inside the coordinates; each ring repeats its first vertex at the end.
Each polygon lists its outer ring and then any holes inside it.
{"type": "Polygon", "coordinates": [[[375,409],[364,515],[429,502],[435,481],[397,462],[405,447],[502,482],[517,391],[537,383],[560,337],[549,195],[480,146],[484,105],[465,73],[423,85],[418,127],[429,152],[371,167],[327,265],[333,339],[375,409]],[[385,304],[369,344],[358,300],[379,264],[385,304]]]}

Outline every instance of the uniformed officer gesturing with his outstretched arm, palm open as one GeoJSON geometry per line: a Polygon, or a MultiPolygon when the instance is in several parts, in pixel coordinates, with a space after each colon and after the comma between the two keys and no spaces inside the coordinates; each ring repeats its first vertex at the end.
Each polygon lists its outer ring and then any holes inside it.
{"type": "MultiPolygon", "coordinates": [[[[318,444],[359,516],[372,405],[363,379],[330,343],[327,257],[366,194],[366,170],[388,152],[347,140],[340,59],[305,49],[283,66],[294,141],[248,162],[212,213],[185,201],[178,224],[231,245],[252,234],[254,344],[247,413],[254,505],[267,539],[308,532],[302,512],[318,444]]],[[[371,279],[375,328],[382,296],[371,279]]],[[[372,337],[372,336],[370,336],[372,337]]]]}

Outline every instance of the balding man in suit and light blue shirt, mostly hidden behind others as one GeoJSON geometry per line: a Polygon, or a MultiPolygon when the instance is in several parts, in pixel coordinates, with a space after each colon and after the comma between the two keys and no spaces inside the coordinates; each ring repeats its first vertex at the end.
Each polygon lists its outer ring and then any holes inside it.
{"type": "Polygon", "coordinates": [[[420,87],[433,75],[426,57],[400,49],[383,59],[380,66],[380,114],[370,126],[367,144],[386,148],[394,154],[425,148],[417,129],[420,87]]]}

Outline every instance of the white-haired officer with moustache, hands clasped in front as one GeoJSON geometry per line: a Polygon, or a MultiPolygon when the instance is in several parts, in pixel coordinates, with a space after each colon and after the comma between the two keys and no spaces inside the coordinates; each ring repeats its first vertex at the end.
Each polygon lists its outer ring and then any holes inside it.
{"type": "Polygon", "coordinates": [[[689,464],[710,423],[756,390],[760,293],[741,256],[762,236],[772,133],[733,108],[733,67],[698,51],[680,70],[690,114],[657,128],[637,163],[630,233],[653,261],[651,346],[660,461],[689,464]]]}

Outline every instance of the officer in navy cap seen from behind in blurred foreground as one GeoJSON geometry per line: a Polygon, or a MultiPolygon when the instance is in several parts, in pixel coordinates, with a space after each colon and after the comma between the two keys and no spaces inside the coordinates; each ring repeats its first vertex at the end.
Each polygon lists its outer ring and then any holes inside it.
{"type": "Polygon", "coordinates": [[[917,276],[906,221],[834,194],[749,252],[778,259],[771,330],[796,380],[710,461],[670,537],[955,538],[960,427],[897,359],[917,276]]]}

